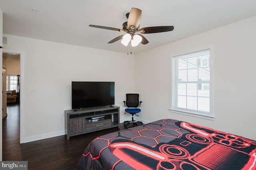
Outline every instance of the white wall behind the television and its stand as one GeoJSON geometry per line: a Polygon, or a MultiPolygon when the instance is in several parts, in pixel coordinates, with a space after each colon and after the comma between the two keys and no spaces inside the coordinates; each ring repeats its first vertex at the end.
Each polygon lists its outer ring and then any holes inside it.
{"type": "Polygon", "coordinates": [[[24,75],[21,71],[24,79],[21,142],[65,133],[64,110],[71,109],[71,81],[115,81],[115,105],[121,107],[120,121],[130,119],[123,114],[122,101],[126,93],[134,92],[134,55],[4,36],[9,37],[5,51],[24,53],[21,55],[21,70],[24,70],[24,75]],[[76,71],[79,75],[75,75],[76,71]],[[38,94],[32,94],[32,89],[37,89],[38,94]]]}

